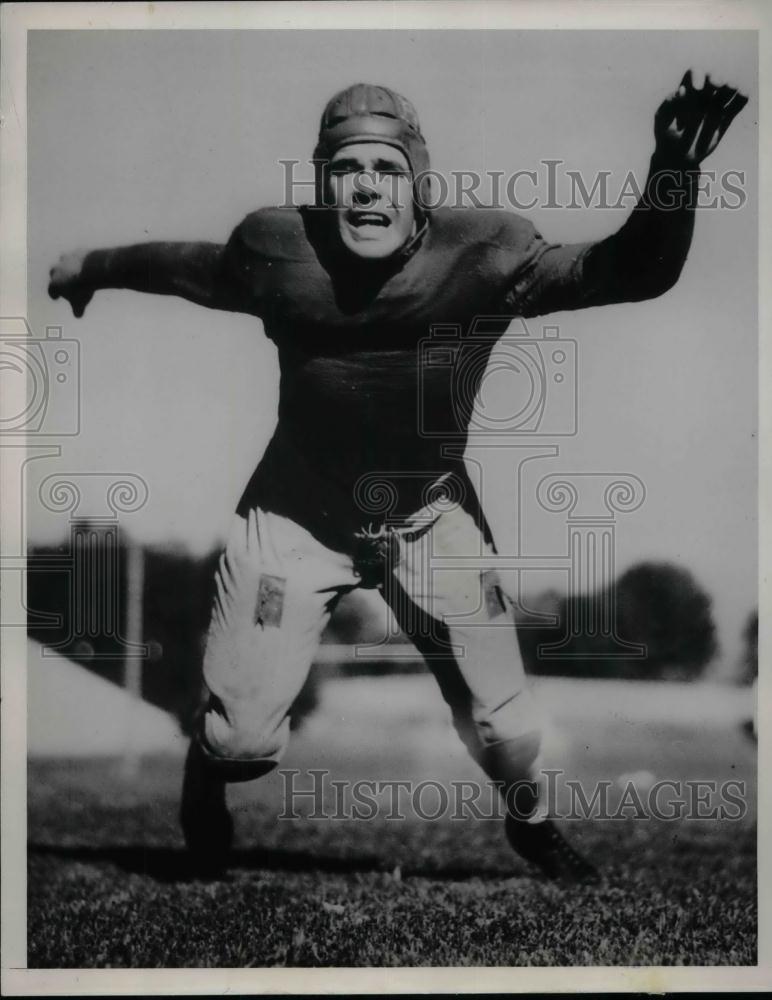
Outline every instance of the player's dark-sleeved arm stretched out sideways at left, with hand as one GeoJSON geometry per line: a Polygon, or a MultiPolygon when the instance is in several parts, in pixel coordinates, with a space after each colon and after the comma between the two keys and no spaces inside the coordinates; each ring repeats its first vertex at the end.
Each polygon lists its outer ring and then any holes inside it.
{"type": "Polygon", "coordinates": [[[76,251],[51,268],[48,294],[67,299],[75,316],[82,316],[94,293],[104,288],[178,295],[210,309],[252,312],[232,256],[230,243],[139,243],[76,251]]]}

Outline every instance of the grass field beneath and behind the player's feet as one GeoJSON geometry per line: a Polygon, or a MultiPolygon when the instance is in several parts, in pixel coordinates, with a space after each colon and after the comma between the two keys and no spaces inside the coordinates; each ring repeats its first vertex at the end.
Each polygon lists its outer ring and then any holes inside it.
{"type": "MultiPolygon", "coordinates": [[[[278,820],[274,773],[230,789],[233,864],[203,881],[186,871],[176,823],[180,757],[145,759],[131,779],[118,760],[36,760],[29,967],[754,964],[755,747],[715,698],[702,715],[695,699],[689,717],[683,690],[684,711],[672,710],[678,686],[650,685],[649,711],[593,685],[545,686],[545,764],[585,783],[642,769],[735,778],[747,815],[569,822],[605,880],[561,888],[511,853],[496,821],[278,820]]],[[[423,676],[328,682],[282,767],[479,777],[423,676]]]]}

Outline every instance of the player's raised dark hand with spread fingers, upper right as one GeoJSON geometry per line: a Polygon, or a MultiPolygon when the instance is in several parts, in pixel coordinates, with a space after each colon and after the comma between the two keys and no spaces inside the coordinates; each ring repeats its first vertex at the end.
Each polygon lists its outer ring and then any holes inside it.
{"type": "Polygon", "coordinates": [[[721,138],[745,105],[748,98],[736,87],[716,83],[709,74],[699,74],[694,85],[690,69],[675,93],[659,107],[654,116],[657,152],[668,159],[697,166],[716,148],[721,138]]]}

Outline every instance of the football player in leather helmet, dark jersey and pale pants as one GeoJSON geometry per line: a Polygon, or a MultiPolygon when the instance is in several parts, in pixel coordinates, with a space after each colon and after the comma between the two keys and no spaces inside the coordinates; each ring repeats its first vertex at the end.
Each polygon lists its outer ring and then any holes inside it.
{"type": "Polygon", "coordinates": [[[178,295],[259,318],[278,347],[278,424],[217,572],[209,700],[186,761],[181,821],[200,868],[227,861],[226,784],[267,773],[283,754],[336,602],[374,587],[426,657],[469,752],[500,783],[515,850],[550,877],[595,879],[539,808],[539,723],[512,604],[484,566],[493,539],[463,440],[448,449],[422,431],[428,422],[463,439],[484,364],[459,398],[447,366],[421,364],[420,345],[435,324],[469,330],[499,316],[490,350],[513,317],[666,292],[692,238],[699,165],[746,101],[687,72],[656,113],[640,204],[608,238],[560,245],[514,213],[433,207],[413,106],[355,84],[322,115],[314,205],[260,209],[222,245],[93,250],[52,269],[51,296],[76,316],[103,288],[178,295]]]}

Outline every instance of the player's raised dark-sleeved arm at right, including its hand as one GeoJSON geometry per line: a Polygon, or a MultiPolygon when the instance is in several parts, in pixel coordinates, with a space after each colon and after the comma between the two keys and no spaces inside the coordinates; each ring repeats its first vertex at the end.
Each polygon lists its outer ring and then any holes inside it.
{"type": "Polygon", "coordinates": [[[703,160],[748,98],[691,70],[654,116],[655,149],[643,196],[625,224],[596,243],[534,254],[518,292],[524,315],[654,298],[678,280],[694,231],[703,160]]]}

